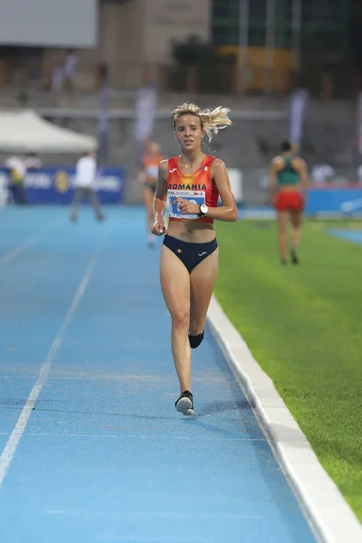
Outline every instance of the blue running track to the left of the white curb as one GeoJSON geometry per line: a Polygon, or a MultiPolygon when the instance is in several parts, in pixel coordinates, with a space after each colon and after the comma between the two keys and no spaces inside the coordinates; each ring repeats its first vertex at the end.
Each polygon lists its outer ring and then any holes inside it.
{"type": "Polygon", "coordinates": [[[176,413],[161,241],[106,211],[0,210],[1,543],[314,542],[209,332],[176,413]]]}

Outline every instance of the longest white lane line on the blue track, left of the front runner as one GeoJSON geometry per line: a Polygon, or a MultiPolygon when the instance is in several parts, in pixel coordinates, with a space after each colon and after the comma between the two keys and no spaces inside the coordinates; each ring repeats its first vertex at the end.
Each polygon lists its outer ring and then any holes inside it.
{"type": "Polygon", "coordinates": [[[100,240],[100,243],[98,243],[97,248],[93,255],[90,258],[90,262],[84,272],[84,275],[81,279],[80,286],[78,287],[78,290],[76,291],[73,300],[71,301],[71,307],[69,308],[65,319],[62,322],[62,326],[59,329],[57,335],[55,336],[52,346],[49,349],[49,352],[43,362],[42,367],[40,368],[40,372],[38,375],[38,378],[35,382],[35,385],[32,388],[32,391],[30,395],[28,396],[25,405],[23,407],[23,410],[21,414],[19,415],[19,418],[17,420],[17,423],[14,426],[14,430],[11,433],[7,443],[5,444],[5,449],[1,453],[0,456],[0,490],[3,485],[3,482],[5,480],[6,473],[9,469],[9,466],[11,462],[13,461],[14,454],[16,452],[17,446],[22,438],[22,435],[24,433],[24,430],[26,428],[26,425],[29,422],[30,415],[33,411],[33,406],[36,404],[36,401],[42,391],[42,388],[45,384],[46,379],[49,376],[51,367],[52,367],[52,361],[54,360],[54,357],[58,351],[58,349],[62,345],[62,340],[64,338],[65,332],[71,322],[71,319],[73,318],[75,311],[77,310],[79,303],[81,301],[81,298],[84,294],[84,292],[87,289],[87,286],[90,281],[90,276],[92,271],[94,270],[94,267],[100,257],[100,249],[105,241],[105,236],[100,240]]]}

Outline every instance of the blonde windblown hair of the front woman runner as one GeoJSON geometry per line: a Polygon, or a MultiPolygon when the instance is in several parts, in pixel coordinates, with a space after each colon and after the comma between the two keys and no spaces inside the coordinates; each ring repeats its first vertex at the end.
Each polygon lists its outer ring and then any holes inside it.
{"type": "Polygon", "coordinates": [[[193,103],[184,102],[181,106],[178,106],[176,110],[172,112],[171,123],[174,129],[176,128],[176,120],[182,115],[195,115],[200,119],[201,129],[205,130],[209,142],[213,138],[214,134],[221,129],[230,127],[232,120],[229,119],[229,108],[222,108],[219,106],[214,110],[201,111],[198,106],[193,103]]]}

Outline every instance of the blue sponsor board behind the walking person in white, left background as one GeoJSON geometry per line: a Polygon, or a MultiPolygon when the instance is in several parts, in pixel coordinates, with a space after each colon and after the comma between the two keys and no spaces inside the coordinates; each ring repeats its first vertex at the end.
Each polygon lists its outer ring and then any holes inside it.
{"type": "MultiPolygon", "coordinates": [[[[74,167],[43,167],[28,172],[24,179],[29,204],[69,204],[74,195],[74,167]]],[[[125,170],[102,167],[98,170],[94,189],[102,204],[119,204],[123,200],[125,170]]],[[[0,184],[7,184],[7,170],[0,168],[0,184]]]]}

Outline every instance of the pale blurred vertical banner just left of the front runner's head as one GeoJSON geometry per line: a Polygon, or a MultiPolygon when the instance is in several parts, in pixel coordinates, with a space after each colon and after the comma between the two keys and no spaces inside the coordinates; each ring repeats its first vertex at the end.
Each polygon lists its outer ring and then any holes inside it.
{"type": "Polygon", "coordinates": [[[138,143],[144,143],[151,138],[157,103],[157,91],[155,87],[141,87],[138,89],[135,116],[135,139],[138,143]]]}

